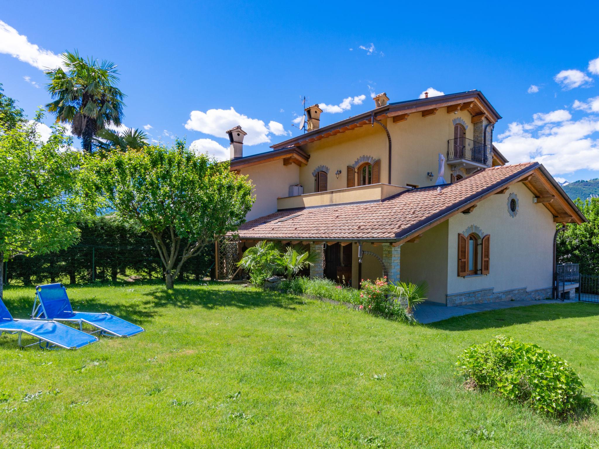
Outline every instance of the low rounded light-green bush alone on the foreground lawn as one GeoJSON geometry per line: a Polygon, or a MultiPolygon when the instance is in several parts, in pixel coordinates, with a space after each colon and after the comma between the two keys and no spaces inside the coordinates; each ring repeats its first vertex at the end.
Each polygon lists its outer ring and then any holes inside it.
{"type": "Polygon", "coordinates": [[[588,404],[582,381],[570,365],[535,344],[498,335],[465,349],[456,366],[472,387],[550,415],[573,415],[588,404]]]}

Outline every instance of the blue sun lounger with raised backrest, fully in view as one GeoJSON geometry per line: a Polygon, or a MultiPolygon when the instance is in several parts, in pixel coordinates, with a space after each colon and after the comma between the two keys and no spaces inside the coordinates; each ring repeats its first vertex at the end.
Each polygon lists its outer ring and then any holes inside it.
{"type": "Polygon", "coordinates": [[[92,333],[99,335],[111,334],[116,336],[132,336],[144,331],[143,327],[129,323],[109,313],[74,312],[62,284],[47,284],[35,287],[35,302],[31,313],[34,320],[70,321],[78,323],[83,329],[83,323],[96,327],[92,333]]]}

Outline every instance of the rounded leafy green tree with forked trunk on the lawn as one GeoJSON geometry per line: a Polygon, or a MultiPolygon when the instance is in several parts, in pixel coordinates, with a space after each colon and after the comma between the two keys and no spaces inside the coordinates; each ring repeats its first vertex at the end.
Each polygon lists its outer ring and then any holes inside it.
{"type": "Polygon", "coordinates": [[[183,141],[173,148],[114,151],[95,162],[94,181],[102,195],[120,216],[152,235],[168,289],[187,259],[234,232],[252,207],[247,177],[226,162],[196,156],[183,141]]]}

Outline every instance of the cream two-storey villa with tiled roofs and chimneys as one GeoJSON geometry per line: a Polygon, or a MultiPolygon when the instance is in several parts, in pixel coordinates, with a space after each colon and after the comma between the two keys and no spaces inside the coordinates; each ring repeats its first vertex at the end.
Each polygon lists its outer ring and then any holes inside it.
{"type": "MultiPolygon", "coordinates": [[[[426,280],[446,305],[552,296],[556,223],[585,217],[537,162],[507,165],[493,145],[501,119],[482,92],[389,102],[243,155],[228,131],[231,169],[256,202],[217,271],[260,240],[323,254],[311,277],[358,287],[366,278],[426,280]]],[[[229,268],[227,268],[229,267],[229,268]]]]}

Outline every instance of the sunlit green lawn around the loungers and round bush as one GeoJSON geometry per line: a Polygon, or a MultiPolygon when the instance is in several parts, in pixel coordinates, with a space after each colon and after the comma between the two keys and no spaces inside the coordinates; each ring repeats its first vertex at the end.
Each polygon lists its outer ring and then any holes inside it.
{"type": "MultiPolygon", "coordinates": [[[[453,374],[498,333],[573,365],[599,402],[599,307],[543,304],[407,326],[240,286],[71,287],[75,308],[146,328],[77,351],[0,337],[1,448],[598,448],[453,374]]],[[[5,290],[27,317],[34,290],[5,290]]]]}

